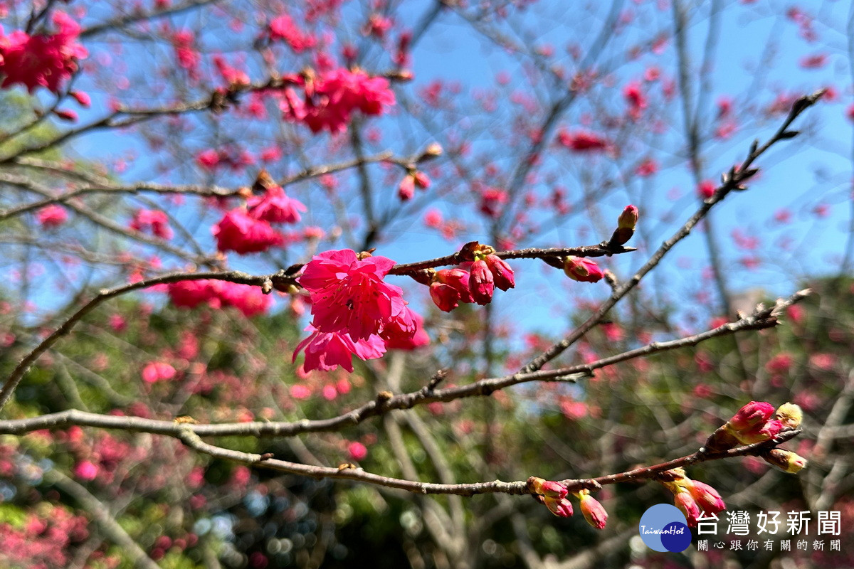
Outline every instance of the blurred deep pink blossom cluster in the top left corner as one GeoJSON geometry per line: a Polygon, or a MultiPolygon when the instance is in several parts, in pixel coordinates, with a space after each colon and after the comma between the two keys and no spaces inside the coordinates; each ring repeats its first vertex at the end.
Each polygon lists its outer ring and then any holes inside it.
{"type": "Polygon", "coordinates": [[[52,20],[58,30],[52,34],[15,30],[3,37],[0,29],[0,87],[21,84],[31,93],[37,87],[59,93],[77,71],[78,61],[89,55],[76,41],[80,26],[63,12],[54,12],[52,20]]]}

